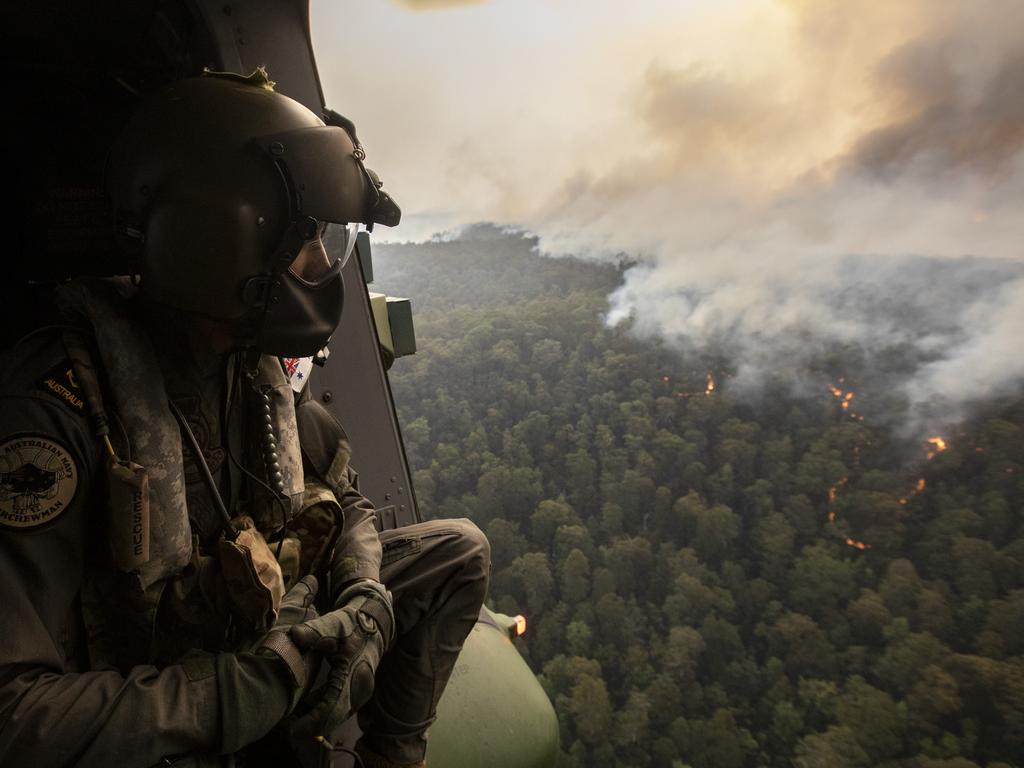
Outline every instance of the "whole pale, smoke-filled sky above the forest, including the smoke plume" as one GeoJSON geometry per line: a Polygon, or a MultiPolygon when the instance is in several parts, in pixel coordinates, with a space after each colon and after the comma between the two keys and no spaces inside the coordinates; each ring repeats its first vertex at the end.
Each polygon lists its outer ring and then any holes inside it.
{"type": "Polygon", "coordinates": [[[609,323],[731,347],[737,387],[909,344],[909,407],[950,418],[1024,379],[1022,29],[1021,0],[312,4],[329,104],[403,209],[377,237],[625,253],[609,323]],[[839,316],[851,288],[914,311],[839,316]]]}

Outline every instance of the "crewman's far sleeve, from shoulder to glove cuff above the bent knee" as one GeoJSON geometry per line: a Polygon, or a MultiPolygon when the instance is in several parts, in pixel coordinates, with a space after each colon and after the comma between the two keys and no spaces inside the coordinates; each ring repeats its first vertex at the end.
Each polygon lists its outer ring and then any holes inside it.
{"type": "Polygon", "coordinates": [[[312,399],[296,406],[299,442],[307,471],[334,494],[341,508],[341,535],[335,546],[332,585],[355,579],[380,581],[381,542],[374,505],[358,490],[349,464],[348,435],[327,409],[312,399]]]}

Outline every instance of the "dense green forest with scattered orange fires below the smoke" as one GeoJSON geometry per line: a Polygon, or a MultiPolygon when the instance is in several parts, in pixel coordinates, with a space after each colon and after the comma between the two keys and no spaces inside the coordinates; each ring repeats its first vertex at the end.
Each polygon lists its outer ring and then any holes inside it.
{"type": "Polygon", "coordinates": [[[618,268],[532,245],[375,256],[415,307],[421,508],[486,530],[562,764],[1024,763],[1024,409],[896,441],[856,350],[740,397],[736,361],[605,327],[618,268]]]}

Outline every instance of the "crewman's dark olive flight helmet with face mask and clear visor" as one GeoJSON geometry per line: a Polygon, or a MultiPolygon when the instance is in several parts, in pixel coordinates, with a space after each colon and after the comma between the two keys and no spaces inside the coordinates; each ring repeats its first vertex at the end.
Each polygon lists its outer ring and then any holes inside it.
{"type": "Polygon", "coordinates": [[[351,123],[328,118],[261,71],[208,73],[144,98],[106,170],[142,295],[232,322],[266,354],[318,351],[341,318],[357,225],[400,218],[351,123]]]}

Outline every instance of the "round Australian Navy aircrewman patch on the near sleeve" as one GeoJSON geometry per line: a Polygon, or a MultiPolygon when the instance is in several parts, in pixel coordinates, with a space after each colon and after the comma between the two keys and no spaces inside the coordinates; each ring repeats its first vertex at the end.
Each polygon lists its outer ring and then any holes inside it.
{"type": "Polygon", "coordinates": [[[42,435],[0,443],[0,526],[34,528],[59,516],[78,488],[71,452],[42,435]]]}

